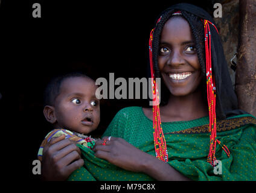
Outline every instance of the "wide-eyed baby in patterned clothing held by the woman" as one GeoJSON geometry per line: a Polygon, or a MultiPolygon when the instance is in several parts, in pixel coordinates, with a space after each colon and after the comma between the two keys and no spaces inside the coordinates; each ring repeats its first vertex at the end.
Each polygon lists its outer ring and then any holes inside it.
{"type": "Polygon", "coordinates": [[[55,128],[40,145],[37,157],[42,161],[44,145],[53,137],[65,134],[85,147],[92,148],[96,139],[85,134],[100,123],[100,100],[95,96],[95,81],[81,73],[54,78],[45,89],[43,114],[55,128]]]}

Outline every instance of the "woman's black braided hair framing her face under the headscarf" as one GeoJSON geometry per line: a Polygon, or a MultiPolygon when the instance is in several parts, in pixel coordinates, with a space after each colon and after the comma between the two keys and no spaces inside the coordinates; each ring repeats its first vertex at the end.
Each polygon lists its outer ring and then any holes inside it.
{"type": "MultiPolygon", "coordinates": [[[[170,19],[171,17],[182,17],[184,18],[188,24],[190,25],[192,35],[195,41],[195,47],[197,51],[197,57],[200,64],[200,69],[202,71],[202,75],[205,78],[206,77],[206,70],[205,70],[205,36],[204,36],[204,28],[203,28],[203,22],[201,19],[194,14],[188,13],[187,11],[181,10],[181,15],[173,15],[176,10],[165,10],[161,14],[161,20],[158,22],[158,24],[155,27],[154,31],[154,38],[152,43],[152,49],[153,49],[153,64],[154,64],[154,70],[155,70],[155,77],[161,78],[161,74],[159,72],[158,67],[158,55],[159,55],[159,43],[161,39],[161,33],[162,29],[164,28],[165,23],[170,19]]],[[[200,84],[200,87],[202,87],[202,90],[204,90],[203,95],[206,96],[206,86],[205,84],[200,84]]],[[[165,84],[161,84],[161,105],[165,105],[168,102],[168,95],[170,95],[170,92],[168,91],[165,84]]],[[[205,97],[203,97],[205,98],[205,97]]]]}

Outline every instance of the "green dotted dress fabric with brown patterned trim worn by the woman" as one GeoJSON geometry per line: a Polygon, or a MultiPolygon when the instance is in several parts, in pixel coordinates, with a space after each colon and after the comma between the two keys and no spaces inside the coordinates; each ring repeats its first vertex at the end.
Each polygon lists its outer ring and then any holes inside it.
{"type": "MultiPolygon", "coordinates": [[[[167,142],[168,163],[191,180],[256,180],[256,119],[239,115],[217,122],[217,139],[228,147],[228,158],[217,144],[218,168],[206,162],[209,153],[209,117],[191,121],[162,122],[167,142]]],[[[142,107],[121,109],[103,136],[123,138],[139,150],[155,156],[153,122],[142,107]]],[[[68,180],[154,180],[139,172],[118,168],[94,156],[94,151],[78,145],[85,164],[68,180]]]]}

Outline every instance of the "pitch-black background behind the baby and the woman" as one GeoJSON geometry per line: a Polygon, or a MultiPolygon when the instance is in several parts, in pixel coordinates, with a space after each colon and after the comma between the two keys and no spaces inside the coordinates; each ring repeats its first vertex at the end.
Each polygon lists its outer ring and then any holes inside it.
{"type": "MultiPolygon", "coordinates": [[[[32,162],[51,130],[42,102],[43,89],[53,76],[82,71],[94,79],[109,80],[110,72],[115,79],[147,77],[149,34],[161,11],[190,2],[213,13],[210,0],[138,2],[1,1],[1,129],[10,136],[7,144],[14,145],[7,150],[12,156],[5,163],[18,157],[30,180],[39,180],[32,174],[32,162]],[[41,18],[32,16],[36,2],[41,18]]],[[[101,122],[92,136],[103,134],[118,110],[147,104],[147,100],[102,100],[101,122]]]]}

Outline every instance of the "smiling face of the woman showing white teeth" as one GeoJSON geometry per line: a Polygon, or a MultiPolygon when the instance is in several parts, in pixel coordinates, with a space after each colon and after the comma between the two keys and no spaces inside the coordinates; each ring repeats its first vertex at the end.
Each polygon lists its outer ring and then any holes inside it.
{"type": "Polygon", "coordinates": [[[182,17],[172,17],[162,30],[158,66],[171,95],[193,93],[202,75],[190,25],[182,17]]]}

